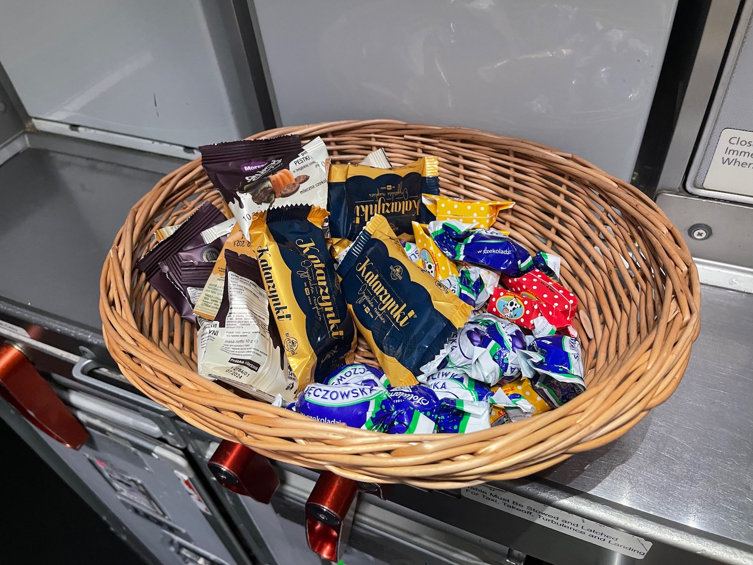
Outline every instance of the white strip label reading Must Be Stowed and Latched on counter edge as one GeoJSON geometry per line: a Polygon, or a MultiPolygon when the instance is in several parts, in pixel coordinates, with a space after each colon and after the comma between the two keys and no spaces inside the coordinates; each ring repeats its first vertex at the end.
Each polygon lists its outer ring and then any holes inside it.
{"type": "Polygon", "coordinates": [[[634,559],[643,559],[653,545],[643,538],[633,536],[633,534],[620,532],[613,527],[552,508],[541,502],[527,499],[525,496],[492,487],[489,484],[464,488],[461,493],[462,496],[477,500],[487,506],[504,510],[508,514],[566,533],[574,538],[583,539],[602,548],[629,555],[634,559]]]}

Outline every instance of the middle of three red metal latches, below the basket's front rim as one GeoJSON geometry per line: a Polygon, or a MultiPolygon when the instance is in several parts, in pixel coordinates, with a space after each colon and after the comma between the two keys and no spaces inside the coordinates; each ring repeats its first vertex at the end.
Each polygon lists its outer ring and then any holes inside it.
{"type": "Polygon", "coordinates": [[[277,473],[264,455],[233,441],[223,440],[207,464],[218,483],[233,493],[269,504],[279,487],[277,473]]]}

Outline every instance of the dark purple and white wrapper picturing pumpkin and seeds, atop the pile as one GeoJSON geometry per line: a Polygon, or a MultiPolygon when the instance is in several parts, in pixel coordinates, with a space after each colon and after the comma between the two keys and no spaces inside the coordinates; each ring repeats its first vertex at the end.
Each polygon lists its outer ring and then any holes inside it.
{"type": "Polygon", "coordinates": [[[252,139],[200,148],[202,166],[248,237],[253,215],[294,204],[327,206],[327,147],[317,137],[252,139]],[[233,145],[239,144],[239,145],[233,145]]]}

